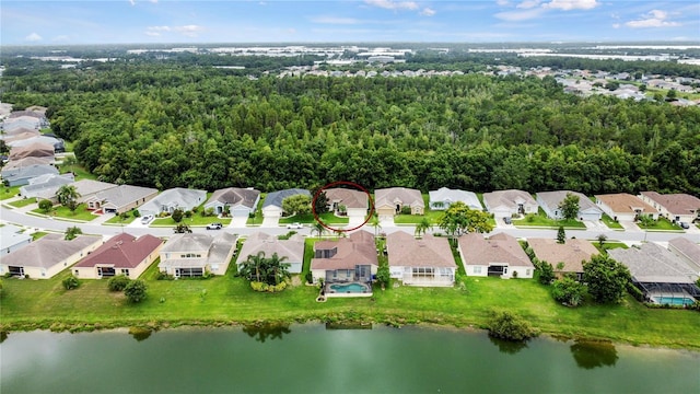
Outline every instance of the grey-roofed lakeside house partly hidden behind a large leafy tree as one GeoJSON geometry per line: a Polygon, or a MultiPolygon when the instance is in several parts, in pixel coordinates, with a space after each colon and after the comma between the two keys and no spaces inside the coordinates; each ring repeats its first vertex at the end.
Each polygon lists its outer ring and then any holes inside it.
{"type": "Polygon", "coordinates": [[[285,257],[282,263],[289,264],[289,273],[301,274],[304,264],[304,236],[294,234],[289,240],[280,240],[277,235],[262,232],[253,233],[245,239],[237,256],[236,266],[238,269],[248,259],[248,256],[255,256],[260,252],[265,253],[266,257],[276,253],[280,258],[285,257]]]}

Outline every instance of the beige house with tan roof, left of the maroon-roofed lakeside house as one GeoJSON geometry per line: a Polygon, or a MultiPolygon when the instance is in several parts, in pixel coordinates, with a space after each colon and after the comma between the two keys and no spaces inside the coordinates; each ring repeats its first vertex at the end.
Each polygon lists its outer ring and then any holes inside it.
{"type": "Polygon", "coordinates": [[[102,245],[102,236],[47,234],[22,248],[0,256],[0,275],[48,279],[102,245]]]}

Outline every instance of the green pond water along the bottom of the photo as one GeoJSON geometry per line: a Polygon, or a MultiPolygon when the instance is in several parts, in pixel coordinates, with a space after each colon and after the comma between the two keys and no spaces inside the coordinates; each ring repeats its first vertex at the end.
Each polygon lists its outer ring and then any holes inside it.
{"type": "Polygon", "coordinates": [[[546,337],[512,344],[447,328],[298,324],[3,339],[3,394],[700,392],[700,352],[546,337]]]}

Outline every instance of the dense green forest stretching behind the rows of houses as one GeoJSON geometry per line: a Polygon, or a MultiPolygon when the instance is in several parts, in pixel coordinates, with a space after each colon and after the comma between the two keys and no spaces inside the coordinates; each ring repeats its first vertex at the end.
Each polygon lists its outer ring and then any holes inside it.
{"type": "Polygon", "coordinates": [[[52,130],[100,178],[160,189],[351,181],[700,195],[700,108],[583,99],[550,77],[248,78],[191,61],[10,66],[2,95],[15,109],[47,106],[52,130]]]}

